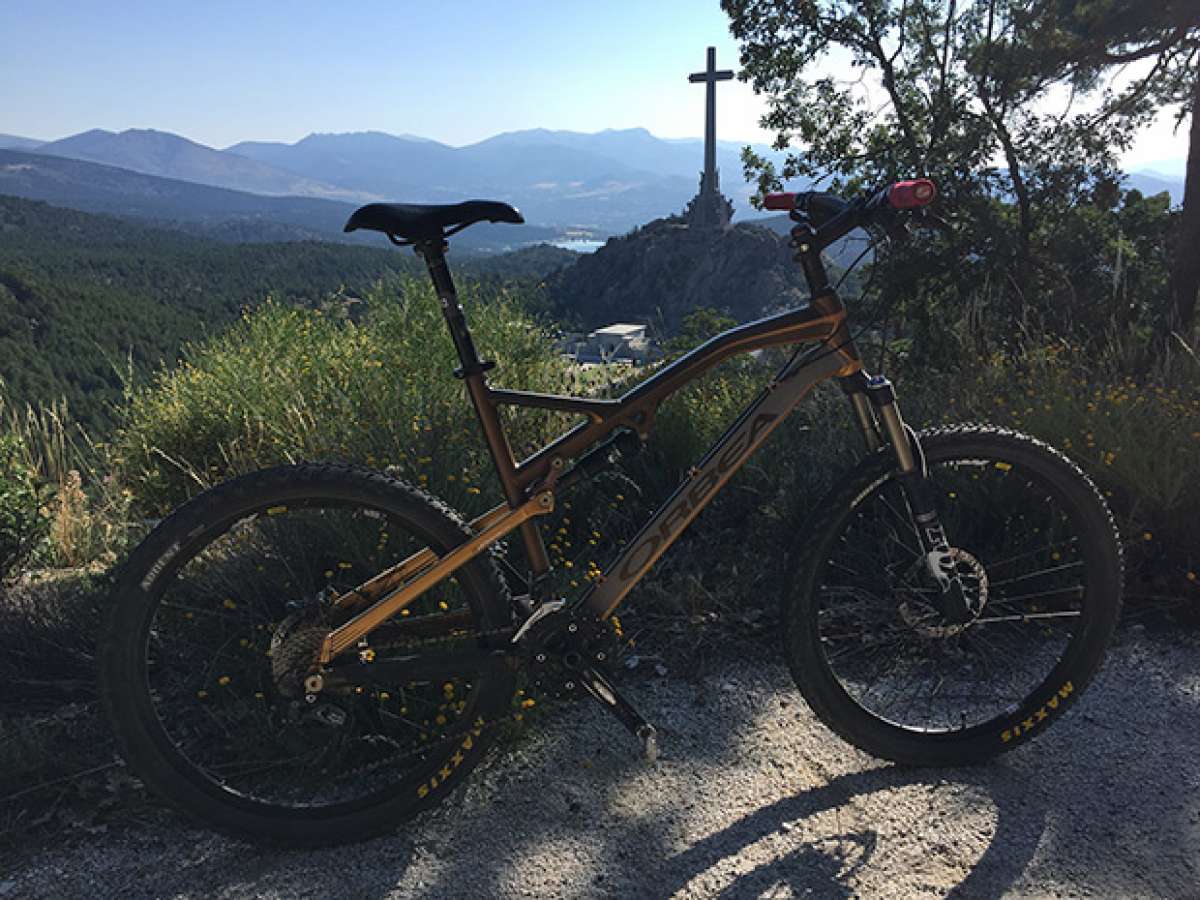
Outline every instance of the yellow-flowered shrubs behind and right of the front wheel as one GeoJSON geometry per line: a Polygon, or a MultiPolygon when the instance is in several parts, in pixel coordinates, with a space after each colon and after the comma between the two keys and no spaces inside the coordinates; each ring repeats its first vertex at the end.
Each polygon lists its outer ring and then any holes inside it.
{"type": "Polygon", "coordinates": [[[918,383],[901,397],[910,418],[992,421],[1066,452],[1116,516],[1127,596],[1200,607],[1200,379],[1194,361],[1184,362],[1132,376],[1048,343],[1016,360],[983,360],[973,377],[918,383]]]}

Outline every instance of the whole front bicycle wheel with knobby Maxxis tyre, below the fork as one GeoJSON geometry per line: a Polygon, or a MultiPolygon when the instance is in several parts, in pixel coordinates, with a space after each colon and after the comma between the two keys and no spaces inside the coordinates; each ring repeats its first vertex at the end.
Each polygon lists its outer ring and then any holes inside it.
{"type": "Polygon", "coordinates": [[[785,652],[817,716],[910,764],[977,762],[1036,737],[1104,656],[1121,605],[1121,550],[1096,486],[1048,445],[962,426],[920,436],[937,512],[972,593],[938,611],[890,448],[822,504],[785,652]]]}

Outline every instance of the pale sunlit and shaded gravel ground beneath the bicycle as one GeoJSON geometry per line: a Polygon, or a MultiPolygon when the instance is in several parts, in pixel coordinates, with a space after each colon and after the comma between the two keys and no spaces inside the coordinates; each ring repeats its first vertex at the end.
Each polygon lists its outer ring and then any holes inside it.
{"type": "Polygon", "coordinates": [[[653,767],[578,704],[395,836],[264,851],[154,812],[37,851],[0,898],[1200,898],[1194,637],[1124,631],[1069,715],[970,769],[847,746],[774,654],[624,684],[653,767]]]}

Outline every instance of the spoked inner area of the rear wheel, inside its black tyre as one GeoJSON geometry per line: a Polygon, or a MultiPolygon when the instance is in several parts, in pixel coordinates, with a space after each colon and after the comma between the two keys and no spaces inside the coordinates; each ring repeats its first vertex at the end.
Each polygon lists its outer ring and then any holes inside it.
{"type": "MultiPolygon", "coordinates": [[[[396,522],[356,514],[296,504],[245,517],[184,564],[155,607],[146,672],[163,731],[198,772],[239,794],[280,806],[354,802],[424,764],[428,748],[473,714],[482,679],[449,677],[460,671],[452,665],[436,682],[335,686],[314,704],[298,694],[311,665],[305,660],[316,659],[332,628],[322,598],[428,542],[404,536],[396,522]],[[368,556],[374,569],[362,562],[368,556]],[[281,630],[284,618],[290,624],[281,630]],[[272,637],[280,646],[270,655],[272,637]],[[396,767],[376,768],[382,756],[396,767]],[[365,766],[376,774],[354,778],[365,766]]],[[[474,629],[474,613],[450,580],[409,612],[380,630],[370,660],[385,665],[388,642],[430,641],[431,661],[443,654],[452,661],[461,643],[445,637],[474,629]]]]}

